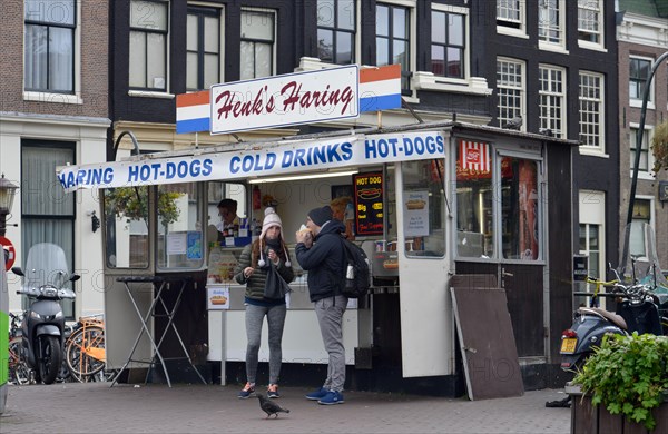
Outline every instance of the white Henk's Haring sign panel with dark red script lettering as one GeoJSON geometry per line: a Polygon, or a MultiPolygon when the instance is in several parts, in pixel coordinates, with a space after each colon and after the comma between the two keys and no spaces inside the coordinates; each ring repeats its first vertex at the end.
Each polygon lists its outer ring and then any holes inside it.
{"type": "Polygon", "coordinates": [[[357,118],[360,67],[214,85],[212,135],[357,118]]]}

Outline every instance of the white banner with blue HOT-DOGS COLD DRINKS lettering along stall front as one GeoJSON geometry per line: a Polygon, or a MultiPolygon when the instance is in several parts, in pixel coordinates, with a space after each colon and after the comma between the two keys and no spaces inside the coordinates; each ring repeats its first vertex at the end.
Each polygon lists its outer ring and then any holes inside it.
{"type": "Polygon", "coordinates": [[[441,131],[355,135],[326,140],[281,142],[263,148],[198,156],[154,154],[154,158],[63,167],[66,191],[79,188],[135,187],[204,180],[262,178],[360,167],[393,161],[443,158],[441,131]]]}

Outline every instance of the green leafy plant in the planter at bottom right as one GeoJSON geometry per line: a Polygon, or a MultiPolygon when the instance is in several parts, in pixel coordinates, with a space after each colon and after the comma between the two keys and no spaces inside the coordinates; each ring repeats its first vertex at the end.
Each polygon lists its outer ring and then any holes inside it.
{"type": "Polygon", "coordinates": [[[573,378],[593,405],[654,430],[652,410],[668,391],[668,337],[610,335],[573,378]]]}

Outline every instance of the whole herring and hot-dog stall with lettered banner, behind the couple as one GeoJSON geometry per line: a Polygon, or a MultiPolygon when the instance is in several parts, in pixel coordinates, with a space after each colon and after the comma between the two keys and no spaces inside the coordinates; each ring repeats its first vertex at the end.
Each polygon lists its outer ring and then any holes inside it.
{"type": "MultiPolygon", "coordinates": [[[[294,243],[310,209],[345,195],[373,276],[372,293],[344,317],[346,387],[454,396],[463,377],[449,293],[456,274],[497,277],[522,375],[548,381],[550,339],[571,308],[571,146],[422,124],[140,155],[58,177],[68,191],[101,189],[107,363],[124,368],[119,381],[240,383],[244,287],[230,278],[240,249],[267,205],[294,243]],[[223,198],[238,205],[237,227],[224,234],[223,198]],[[405,379],[414,377],[425,381],[405,379]]],[[[282,377],[313,385],[327,355],[291,255],[282,377]]]]}

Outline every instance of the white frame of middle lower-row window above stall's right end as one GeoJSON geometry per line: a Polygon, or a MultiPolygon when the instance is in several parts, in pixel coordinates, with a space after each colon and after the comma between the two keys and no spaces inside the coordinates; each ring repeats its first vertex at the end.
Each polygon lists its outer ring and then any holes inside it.
{"type": "Polygon", "coordinates": [[[539,128],[540,129],[549,129],[552,131],[552,135],[554,137],[559,137],[559,138],[566,138],[568,137],[568,119],[567,119],[567,110],[566,110],[566,105],[567,105],[567,71],[566,68],[562,67],[558,67],[554,65],[547,65],[547,63],[540,63],[538,66],[538,108],[539,108],[539,128]],[[550,87],[549,90],[544,90],[542,88],[543,86],[543,70],[547,70],[549,72],[549,79],[548,79],[548,85],[550,87]],[[559,72],[561,80],[560,82],[560,88],[561,91],[554,91],[552,90],[552,83],[557,82],[556,80],[552,79],[552,72],[559,72]],[[549,103],[544,103],[544,99],[548,99],[548,101],[554,101],[554,100],[559,100],[560,101],[560,106],[559,109],[557,110],[557,105],[549,102],[549,103]],[[554,111],[559,111],[559,116],[558,117],[553,117],[553,116],[543,116],[543,114],[546,112],[554,112],[554,111]],[[552,128],[552,125],[559,121],[561,125],[561,128],[552,128]]]}

